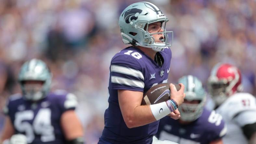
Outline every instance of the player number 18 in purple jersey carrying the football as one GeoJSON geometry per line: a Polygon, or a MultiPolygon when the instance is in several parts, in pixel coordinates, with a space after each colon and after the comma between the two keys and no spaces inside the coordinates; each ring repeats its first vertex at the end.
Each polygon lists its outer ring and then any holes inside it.
{"type": "Polygon", "coordinates": [[[172,52],[168,48],[165,23],[168,18],[148,2],[134,3],[122,12],[119,26],[123,42],[132,44],[115,54],[110,64],[109,107],[98,144],[173,143],[153,137],[159,119],[180,118],[177,107],[183,102],[184,85],[177,91],[170,84],[172,102],[141,106],[143,93],[167,82],[172,52]]]}

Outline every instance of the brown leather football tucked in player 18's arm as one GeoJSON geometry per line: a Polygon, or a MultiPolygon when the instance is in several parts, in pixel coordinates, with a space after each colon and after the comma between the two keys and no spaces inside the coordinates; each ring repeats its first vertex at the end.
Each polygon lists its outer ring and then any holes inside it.
{"type": "MultiPolygon", "coordinates": [[[[143,95],[141,105],[150,105],[170,100],[171,90],[170,83],[161,83],[151,87],[143,95]]],[[[174,84],[177,90],[180,90],[180,85],[174,84]]]]}

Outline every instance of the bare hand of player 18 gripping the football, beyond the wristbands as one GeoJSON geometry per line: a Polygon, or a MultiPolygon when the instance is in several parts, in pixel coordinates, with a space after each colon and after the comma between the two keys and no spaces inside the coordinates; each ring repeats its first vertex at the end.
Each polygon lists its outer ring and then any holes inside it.
{"type": "MultiPolygon", "coordinates": [[[[176,87],[172,83],[170,84],[171,99],[173,99],[175,102],[177,102],[178,106],[180,106],[184,102],[184,98],[186,95],[184,93],[185,86],[182,83],[179,83],[179,85],[181,88],[179,91],[177,91],[176,87]]],[[[177,120],[180,118],[180,112],[178,109],[176,109],[175,111],[168,114],[168,116],[171,116],[171,118],[177,120]]]]}

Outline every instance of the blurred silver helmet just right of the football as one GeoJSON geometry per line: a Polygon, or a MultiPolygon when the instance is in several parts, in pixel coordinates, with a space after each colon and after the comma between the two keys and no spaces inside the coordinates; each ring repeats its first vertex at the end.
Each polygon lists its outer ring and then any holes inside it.
{"type": "Polygon", "coordinates": [[[181,120],[191,122],[201,116],[203,112],[203,107],[206,102],[206,91],[202,86],[202,82],[191,75],[183,76],[178,80],[179,83],[183,83],[185,86],[184,92],[187,101],[198,100],[199,103],[182,103],[179,106],[179,111],[181,114],[181,120]]]}

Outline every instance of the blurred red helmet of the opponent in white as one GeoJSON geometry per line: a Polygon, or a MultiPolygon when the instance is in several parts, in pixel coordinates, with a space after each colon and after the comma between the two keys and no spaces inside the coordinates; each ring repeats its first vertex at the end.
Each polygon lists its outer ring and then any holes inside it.
{"type": "Polygon", "coordinates": [[[230,64],[217,64],[211,70],[208,89],[217,105],[223,103],[230,95],[242,91],[241,72],[230,64]]]}

